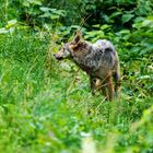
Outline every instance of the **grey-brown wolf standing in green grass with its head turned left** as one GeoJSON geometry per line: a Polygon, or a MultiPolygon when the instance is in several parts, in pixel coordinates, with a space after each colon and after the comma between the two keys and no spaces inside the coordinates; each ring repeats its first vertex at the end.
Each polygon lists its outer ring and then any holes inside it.
{"type": "Polygon", "coordinates": [[[120,64],[118,54],[109,40],[98,39],[92,44],[84,40],[81,32],[78,31],[73,40],[66,43],[54,56],[57,60],[70,59],[90,75],[93,95],[97,86],[108,101],[113,101],[115,94],[118,94],[120,64]]]}

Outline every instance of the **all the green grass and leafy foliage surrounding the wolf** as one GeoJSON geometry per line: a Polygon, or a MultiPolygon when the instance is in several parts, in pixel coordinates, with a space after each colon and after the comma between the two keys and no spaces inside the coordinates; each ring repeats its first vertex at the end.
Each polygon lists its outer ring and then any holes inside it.
{"type": "Polygon", "coordinates": [[[153,152],[152,0],[0,0],[1,152],[153,152]],[[81,28],[110,39],[122,74],[115,103],[52,54],[81,28]],[[90,111],[90,114],[89,114],[90,111]]]}

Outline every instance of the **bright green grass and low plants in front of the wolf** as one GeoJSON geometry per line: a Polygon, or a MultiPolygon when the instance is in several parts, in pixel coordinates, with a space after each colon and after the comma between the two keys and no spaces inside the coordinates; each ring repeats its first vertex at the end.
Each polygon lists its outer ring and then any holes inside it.
{"type": "Polygon", "coordinates": [[[115,103],[93,97],[86,74],[48,47],[39,34],[0,36],[0,152],[153,152],[145,86],[131,75],[115,103]]]}

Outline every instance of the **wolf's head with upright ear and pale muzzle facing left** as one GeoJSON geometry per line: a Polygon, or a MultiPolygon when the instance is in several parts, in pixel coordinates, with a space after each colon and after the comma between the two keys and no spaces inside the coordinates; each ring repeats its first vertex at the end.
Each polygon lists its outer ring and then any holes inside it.
{"type": "Polygon", "coordinates": [[[74,50],[78,48],[79,44],[81,43],[81,40],[82,40],[81,32],[78,31],[74,36],[74,39],[70,43],[64,44],[61,47],[61,49],[59,49],[59,51],[56,52],[54,56],[58,60],[71,58],[74,50]]]}

